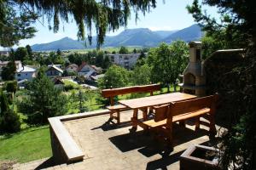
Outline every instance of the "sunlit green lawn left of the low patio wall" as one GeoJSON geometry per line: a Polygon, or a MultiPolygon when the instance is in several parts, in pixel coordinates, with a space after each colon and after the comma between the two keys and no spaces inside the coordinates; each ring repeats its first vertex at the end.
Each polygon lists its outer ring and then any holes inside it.
{"type": "Polygon", "coordinates": [[[33,161],[52,156],[49,126],[30,127],[0,136],[0,160],[33,161]]]}

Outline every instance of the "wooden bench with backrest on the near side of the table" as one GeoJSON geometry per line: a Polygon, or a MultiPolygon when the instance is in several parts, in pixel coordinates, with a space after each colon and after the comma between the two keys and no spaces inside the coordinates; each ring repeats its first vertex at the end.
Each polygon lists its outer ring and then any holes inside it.
{"type": "Polygon", "coordinates": [[[161,105],[154,107],[155,117],[152,120],[139,122],[143,129],[156,130],[163,133],[164,138],[172,146],[172,123],[183,122],[190,118],[195,118],[195,130],[200,128],[200,117],[207,115],[209,117],[210,135],[216,134],[214,113],[218,94],[207,97],[188,99],[184,101],[173,102],[170,105],[161,105]]]}

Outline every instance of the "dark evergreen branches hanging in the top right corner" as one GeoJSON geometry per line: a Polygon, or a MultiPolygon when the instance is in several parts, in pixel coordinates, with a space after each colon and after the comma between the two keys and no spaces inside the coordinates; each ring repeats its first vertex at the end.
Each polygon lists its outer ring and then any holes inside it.
{"type": "Polygon", "coordinates": [[[224,40],[230,43],[230,46],[247,47],[247,45],[255,44],[256,42],[256,26],[255,18],[255,3],[253,1],[230,0],[218,1],[203,1],[202,4],[215,6],[218,8],[218,13],[221,14],[220,22],[211,17],[207,13],[203,13],[198,0],[194,0],[191,6],[188,6],[189,13],[204,31],[207,31],[209,36],[215,37],[216,40],[224,40]]]}

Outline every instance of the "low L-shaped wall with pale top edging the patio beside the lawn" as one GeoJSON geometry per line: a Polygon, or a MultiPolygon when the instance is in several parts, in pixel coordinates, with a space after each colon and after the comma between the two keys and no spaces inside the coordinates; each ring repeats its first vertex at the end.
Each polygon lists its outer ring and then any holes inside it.
{"type": "Polygon", "coordinates": [[[100,116],[109,114],[108,110],[90,111],[73,115],[50,117],[49,132],[51,149],[55,163],[71,163],[73,161],[83,161],[84,153],[75,143],[72,136],[62,122],[86,118],[90,116],[100,116]]]}

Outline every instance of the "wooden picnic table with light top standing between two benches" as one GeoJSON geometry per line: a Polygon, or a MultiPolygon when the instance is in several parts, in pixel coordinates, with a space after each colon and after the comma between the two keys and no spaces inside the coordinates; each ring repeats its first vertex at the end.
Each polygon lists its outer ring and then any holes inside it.
{"type": "Polygon", "coordinates": [[[133,116],[131,118],[132,128],[131,132],[137,131],[137,112],[138,109],[143,111],[143,120],[147,119],[147,108],[156,106],[156,105],[166,105],[170,104],[174,101],[181,101],[186,99],[195,99],[197,96],[192,94],[183,94],[180,92],[172,93],[172,94],[160,94],[155,96],[148,96],[144,98],[137,98],[137,99],[127,99],[127,100],[120,100],[119,104],[125,105],[126,107],[133,110],[133,116]]]}

